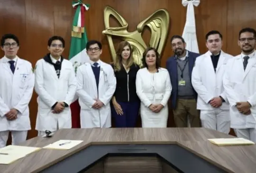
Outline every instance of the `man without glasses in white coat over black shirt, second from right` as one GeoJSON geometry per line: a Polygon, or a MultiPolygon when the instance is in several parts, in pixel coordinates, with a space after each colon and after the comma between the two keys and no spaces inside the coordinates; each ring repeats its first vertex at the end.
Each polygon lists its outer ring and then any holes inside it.
{"type": "Polygon", "coordinates": [[[197,109],[202,127],[230,131],[229,103],[223,87],[223,75],[231,55],[223,52],[222,35],[210,31],[206,35],[208,52],[197,57],[192,70],[192,86],[198,93],[197,109]]]}

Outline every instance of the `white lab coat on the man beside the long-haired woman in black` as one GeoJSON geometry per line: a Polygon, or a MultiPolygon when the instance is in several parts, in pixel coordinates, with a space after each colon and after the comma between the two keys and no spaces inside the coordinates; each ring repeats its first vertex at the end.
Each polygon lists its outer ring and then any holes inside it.
{"type": "Polygon", "coordinates": [[[81,106],[81,128],[109,128],[111,127],[110,100],[116,90],[116,77],[110,64],[98,61],[101,71],[99,78],[99,95],[91,63],[86,62],[77,69],[77,95],[81,106]],[[94,109],[92,105],[99,99],[103,103],[101,109],[94,109]]]}

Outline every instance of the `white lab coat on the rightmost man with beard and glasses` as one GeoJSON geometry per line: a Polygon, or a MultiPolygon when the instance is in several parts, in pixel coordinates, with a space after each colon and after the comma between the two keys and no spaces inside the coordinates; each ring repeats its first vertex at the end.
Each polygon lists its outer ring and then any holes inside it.
{"type": "Polygon", "coordinates": [[[248,129],[256,126],[256,51],[251,54],[244,71],[242,54],[228,62],[223,84],[230,103],[231,128],[248,129]],[[244,115],[236,102],[249,102],[251,114],[244,115]]]}

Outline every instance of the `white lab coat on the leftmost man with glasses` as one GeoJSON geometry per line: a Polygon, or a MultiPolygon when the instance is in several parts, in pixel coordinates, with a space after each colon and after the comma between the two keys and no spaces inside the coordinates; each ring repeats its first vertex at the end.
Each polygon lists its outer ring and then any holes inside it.
{"type": "Polygon", "coordinates": [[[30,130],[29,108],[34,88],[34,73],[29,61],[18,58],[14,74],[9,59],[0,59],[0,131],[30,130]],[[5,114],[10,109],[18,110],[18,118],[8,121],[5,114]]]}

